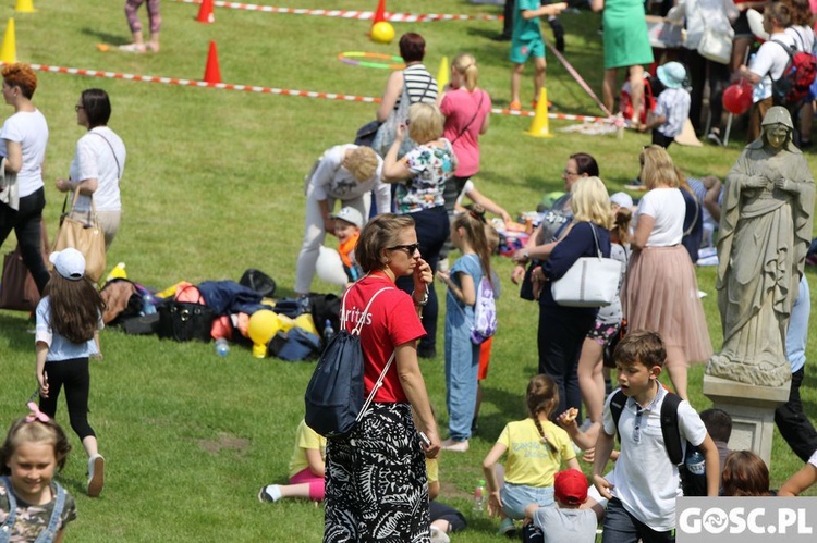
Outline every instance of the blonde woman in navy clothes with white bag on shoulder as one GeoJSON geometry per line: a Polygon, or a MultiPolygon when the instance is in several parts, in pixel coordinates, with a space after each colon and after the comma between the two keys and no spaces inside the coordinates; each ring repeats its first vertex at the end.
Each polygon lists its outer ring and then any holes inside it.
{"type": "Polygon", "coordinates": [[[578,356],[582,344],[596,322],[598,308],[565,307],[553,299],[551,284],[561,279],[582,257],[601,251],[610,258],[612,212],[607,188],[598,177],[577,181],[571,192],[573,221],[568,233],[553,247],[550,257],[533,270],[534,295],[539,299],[539,373],[549,375],[559,386],[559,404],[553,416],[569,407],[581,408],[578,356]]]}

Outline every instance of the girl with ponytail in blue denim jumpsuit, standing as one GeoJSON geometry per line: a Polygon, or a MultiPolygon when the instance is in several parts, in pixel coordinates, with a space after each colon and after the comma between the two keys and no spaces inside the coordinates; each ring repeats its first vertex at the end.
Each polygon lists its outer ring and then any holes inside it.
{"type": "MultiPolygon", "coordinates": [[[[476,205],[458,215],[451,225],[451,243],[460,249],[451,271],[438,271],[437,277],[448,286],[446,296],[446,405],[448,407],[449,439],[442,448],[464,453],[468,449],[471,423],[477,396],[479,346],[472,331],[485,332],[477,325],[477,307],[484,307],[488,294],[483,277],[490,285],[490,305],[499,291],[499,281],[491,272],[491,252],[485,235],[485,210],[476,205]]],[[[486,320],[486,319],[481,319],[486,320]]],[[[485,328],[485,326],[483,326],[485,328]]]]}

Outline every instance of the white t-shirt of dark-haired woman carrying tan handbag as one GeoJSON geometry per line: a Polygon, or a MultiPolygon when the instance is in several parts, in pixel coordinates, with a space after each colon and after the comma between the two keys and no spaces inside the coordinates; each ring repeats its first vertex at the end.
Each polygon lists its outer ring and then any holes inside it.
{"type": "MultiPolygon", "coordinates": [[[[98,211],[122,209],[119,182],[125,170],[126,155],[122,138],[108,126],[92,128],[76,143],[69,176],[72,181],[97,180],[94,205],[98,211]]],[[[87,210],[89,205],[88,196],[80,195],[76,199],[77,211],[87,210]]]]}

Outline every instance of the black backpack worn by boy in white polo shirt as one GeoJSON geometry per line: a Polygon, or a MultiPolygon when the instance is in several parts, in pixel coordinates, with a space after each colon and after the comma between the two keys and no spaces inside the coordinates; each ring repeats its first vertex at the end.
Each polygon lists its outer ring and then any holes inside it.
{"type": "MultiPolygon", "coordinates": [[[[610,400],[610,412],[615,423],[615,433],[619,442],[621,442],[619,419],[621,418],[621,411],[624,409],[626,399],[624,393],[619,390],[610,400]]],[[[667,391],[667,396],[661,404],[661,434],[663,435],[663,444],[667,447],[667,455],[670,457],[670,461],[678,466],[684,496],[706,496],[706,474],[692,473],[686,469],[686,458],[690,458],[693,454],[699,452],[699,449],[687,441],[686,455],[684,455],[684,449],[681,446],[681,428],[678,424],[678,406],[680,404],[681,396],[667,391]]]]}

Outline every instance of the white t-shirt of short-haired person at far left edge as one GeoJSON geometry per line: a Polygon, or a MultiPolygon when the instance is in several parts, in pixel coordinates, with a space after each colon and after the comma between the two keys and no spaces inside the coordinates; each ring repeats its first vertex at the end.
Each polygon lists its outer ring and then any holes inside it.
{"type": "Polygon", "coordinates": [[[23,152],[23,166],[17,172],[20,197],[35,193],[42,187],[42,161],[48,145],[48,123],[39,110],[19,111],[3,123],[0,129],[0,155],[9,156],[5,140],[20,144],[23,152]]]}

